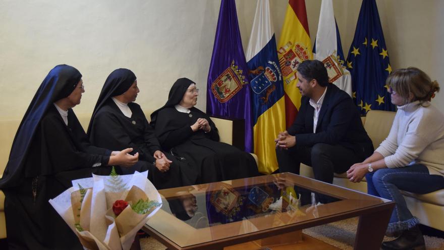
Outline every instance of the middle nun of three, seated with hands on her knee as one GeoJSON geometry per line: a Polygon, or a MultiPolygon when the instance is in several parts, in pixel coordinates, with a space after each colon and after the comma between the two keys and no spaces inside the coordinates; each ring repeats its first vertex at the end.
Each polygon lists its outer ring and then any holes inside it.
{"type": "Polygon", "coordinates": [[[197,172],[185,161],[161,151],[154,129],[136,101],[136,75],[117,69],[103,85],[88,127],[91,143],[100,147],[132,147],[139,162],[126,171],[148,170],[148,179],[157,189],[195,184],[197,172]]]}

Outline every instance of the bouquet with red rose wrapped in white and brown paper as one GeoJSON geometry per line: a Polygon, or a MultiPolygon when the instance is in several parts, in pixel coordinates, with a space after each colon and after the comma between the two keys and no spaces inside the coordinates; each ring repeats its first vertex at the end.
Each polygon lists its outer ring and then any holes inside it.
{"type": "Polygon", "coordinates": [[[161,207],[148,172],[73,180],[49,203],[87,249],[130,249],[137,231],[161,207]]]}

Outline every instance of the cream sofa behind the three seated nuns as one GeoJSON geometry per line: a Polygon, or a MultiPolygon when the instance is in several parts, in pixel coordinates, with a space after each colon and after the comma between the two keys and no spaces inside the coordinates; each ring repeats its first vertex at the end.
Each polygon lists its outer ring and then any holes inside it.
{"type": "MultiPolygon", "coordinates": [[[[151,113],[152,111],[145,112],[145,114],[151,113]]],[[[76,115],[79,118],[83,128],[87,129],[91,114],[76,115]]],[[[147,118],[149,119],[149,117],[147,118]]],[[[239,127],[236,122],[219,118],[212,118],[212,120],[216,124],[216,127],[219,128],[220,141],[229,144],[236,144],[238,141],[240,141],[239,138],[233,136],[233,131],[239,130],[238,128],[236,128],[236,126],[239,127]]],[[[21,119],[0,120],[0,141],[2,141],[2,143],[0,144],[0,177],[3,175],[3,171],[5,170],[6,164],[8,163],[11,145],[20,122],[21,119]]],[[[253,155],[253,157],[256,159],[257,162],[257,157],[255,155],[253,155]]],[[[0,239],[4,239],[7,237],[4,202],[5,194],[2,190],[0,190],[0,239]]]]}

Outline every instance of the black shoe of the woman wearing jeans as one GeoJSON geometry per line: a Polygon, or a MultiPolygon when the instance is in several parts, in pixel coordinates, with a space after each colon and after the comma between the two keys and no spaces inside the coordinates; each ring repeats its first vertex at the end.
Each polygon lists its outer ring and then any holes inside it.
{"type": "Polygon", "coordinates": [[[421,230],[416,225],[405,230],[399,238],[382,242],[381,248],[384,250],[425,250],[425,242],[421,230]]]}

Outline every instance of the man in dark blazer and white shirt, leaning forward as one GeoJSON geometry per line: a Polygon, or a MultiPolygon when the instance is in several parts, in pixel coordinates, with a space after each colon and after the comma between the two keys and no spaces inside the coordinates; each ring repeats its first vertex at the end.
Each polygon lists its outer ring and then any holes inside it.
{"type": "Polygon", "coordinates": [[[299,113],[275,139],[279,170],[299,174],[304,163],[313,168],[316,180],[332,183],[334,173],[344,173],[369,157],[373,145],[352,98],[328,83],[322,62],[302,62],[297,77],[302,95],[299,113]]]}

